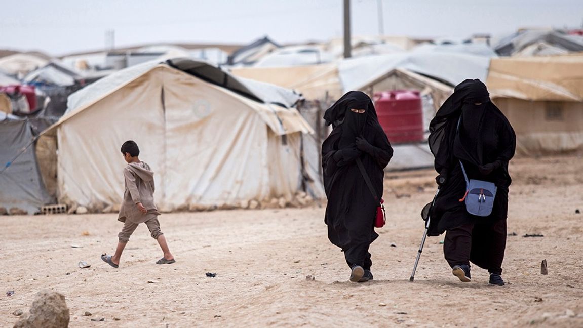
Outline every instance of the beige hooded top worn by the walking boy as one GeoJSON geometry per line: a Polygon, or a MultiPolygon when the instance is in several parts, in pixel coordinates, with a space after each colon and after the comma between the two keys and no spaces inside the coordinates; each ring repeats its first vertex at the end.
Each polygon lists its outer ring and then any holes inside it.
{"type": "Polygon", "coordinates": [[[125,191],[121,203],[120,215],[117,220],[131,223],[143,223],[154,215],[160,215],[154,204],[154,172],[144,162],[129,163],[124,168],[125,191]],[[137,203],[146,207],[147,213],[142,213],[137,203]]]}

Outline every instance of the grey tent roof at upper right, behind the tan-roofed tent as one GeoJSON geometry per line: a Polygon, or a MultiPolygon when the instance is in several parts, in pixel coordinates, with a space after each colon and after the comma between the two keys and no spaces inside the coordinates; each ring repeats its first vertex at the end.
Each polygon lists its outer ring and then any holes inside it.
{"type": "Polygon", "coordinates": [[[500,40],[494,50],[501,56],[511,56],[532,44],[543,43],[566,51],[583,51],[583,37],[570,36],[560,31],[526,30],[500,40]]]}

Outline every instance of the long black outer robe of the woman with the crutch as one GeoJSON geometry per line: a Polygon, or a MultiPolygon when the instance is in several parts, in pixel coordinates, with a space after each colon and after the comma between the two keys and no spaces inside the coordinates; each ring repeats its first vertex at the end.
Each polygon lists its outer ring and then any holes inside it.
{"type": "Polygon", "coordinates": [[[512,182],[508,162],[514,156],[516,136],[504,114],[490,102],[486,86],[479,80],[459,84],[431,121],[430,132],[436,171],[445,182],[430,211],[429,235],[440,235],[463,224],[505,220],[508,186],[512,182]],[[475,105],[475,101],[482,104],[475,105]],[[460,160],[469,179],[496,184],[496,199],[490,216],[473,216],[466,211],[465,203],[459,202],[466,192],[460,160]],[[493,170],[487,172],[489,168],[493,170]]]}

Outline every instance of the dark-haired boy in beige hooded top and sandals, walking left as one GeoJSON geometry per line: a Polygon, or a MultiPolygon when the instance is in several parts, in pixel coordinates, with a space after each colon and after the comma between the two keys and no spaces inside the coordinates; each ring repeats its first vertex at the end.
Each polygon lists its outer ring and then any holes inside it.
{"type": "Polygon", "coordinates": [[[124,168],[125,191],[124,201],[121,204],[120,215],[117,220],[124,223],[120,234],[119,242],[113,256],[103,254],[101,259],[115,268],[120,265],[121,253],[129,241],[129,236],[136,230],[140,223],[145,223],[152,238],[158,241],[163,258],[156,264],[171,264],[176,262],[174,256],[168,249],[166,237],[160,231],[158,216],[160,212],[154,204],[154,172],[150,166],[139,160],[140,150],[138,144],[132,140],[124,142],[121,146],[121,153],[128,163],[124,168]]]}

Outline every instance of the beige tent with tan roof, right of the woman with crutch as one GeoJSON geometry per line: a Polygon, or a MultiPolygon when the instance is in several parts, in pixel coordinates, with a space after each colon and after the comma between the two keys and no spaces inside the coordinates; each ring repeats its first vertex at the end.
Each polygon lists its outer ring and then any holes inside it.
{"type": "Polygon", "coordinates": [[[487,85],[520,153],[583,150],[583,55],[495,58],[487,85]]]}

